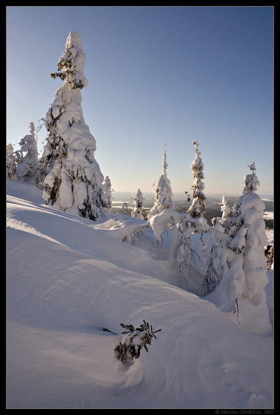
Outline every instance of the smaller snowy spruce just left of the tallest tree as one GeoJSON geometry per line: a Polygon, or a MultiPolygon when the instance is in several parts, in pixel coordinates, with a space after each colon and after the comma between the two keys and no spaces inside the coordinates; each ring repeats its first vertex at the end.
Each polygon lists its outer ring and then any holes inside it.
{"type": "Polygon", "coordinates": [[[41,169],[38,160],[37,136],[33,123],[29,124],[30,134],[20,141],[21,154],[19,164],[17,165],[17,180],[40,186],[41,169]]]}

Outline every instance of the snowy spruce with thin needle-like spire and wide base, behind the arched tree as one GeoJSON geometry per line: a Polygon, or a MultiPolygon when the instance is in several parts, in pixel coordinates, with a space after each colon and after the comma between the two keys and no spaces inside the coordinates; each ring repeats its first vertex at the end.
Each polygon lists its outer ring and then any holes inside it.
{"type": "Polygon", "coordinates": [[[166,162],[166,143],[164,143],[162,174],[156,182],[154,182],[155,201],[153,207],[147,212],[148,220],[154,215],[158,215],[163,209],[174,209],[173,193],[170,180],[167,178],[166,170],[168,164],[166,162]]]}

